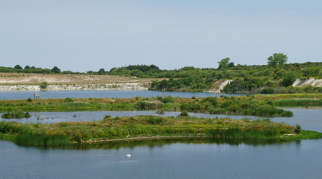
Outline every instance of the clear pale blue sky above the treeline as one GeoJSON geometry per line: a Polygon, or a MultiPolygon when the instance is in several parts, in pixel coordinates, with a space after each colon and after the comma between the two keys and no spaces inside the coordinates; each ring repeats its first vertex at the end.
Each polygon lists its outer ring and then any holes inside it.
{"type": "Polygon", "coordinates": [[[0,66],[217,68],[322,61],[322,1],[0,1],[0,66]]]}

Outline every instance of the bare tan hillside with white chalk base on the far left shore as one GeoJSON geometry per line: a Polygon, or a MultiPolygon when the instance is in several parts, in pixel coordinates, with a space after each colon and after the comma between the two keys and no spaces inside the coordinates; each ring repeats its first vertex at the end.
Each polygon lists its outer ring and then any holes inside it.
{"type": "Polygon", "coordinates": [[[147,90],[151,81],[164,78],[137,78],[118,75],[0,73],[0,91],[147,90]],[[40,83],[48,83],[45,89],[40,83]]]}

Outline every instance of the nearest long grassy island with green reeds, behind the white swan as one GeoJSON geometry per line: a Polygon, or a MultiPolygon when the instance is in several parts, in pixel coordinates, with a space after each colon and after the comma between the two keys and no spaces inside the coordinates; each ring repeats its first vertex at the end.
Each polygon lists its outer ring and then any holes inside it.
{"type": "Polygon", "coordinates": [[[118,139],[165,136],[203,136],[243,139],[308,139],[322,133],[303,131],[299,125],[275,123],[269,119],[250,121],[227,118],[106,116],[100,121],[21,124],[0,122],[0,138],[19,144],[68,145],[118,139]]]}

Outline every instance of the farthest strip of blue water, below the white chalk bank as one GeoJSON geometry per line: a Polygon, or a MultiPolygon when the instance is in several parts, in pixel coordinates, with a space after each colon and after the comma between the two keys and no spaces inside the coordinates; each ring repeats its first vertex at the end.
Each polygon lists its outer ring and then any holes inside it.
{"type": "MultiPolygon", "coordinates": [[[[142,96],[151,98],[162,96],[157,91],[40,91],[40,92],[0,92],[0,100],[17,100],[34,98],[34,94],[40,94],[41,99],[48,98],[134,98],[142,96]]],[[[191,93],[191,92],[167,92],[167,96],[181,98],[203,98],[225,96],[242,96],[244,94],[215,94],[215,93],[191,93]]]]}

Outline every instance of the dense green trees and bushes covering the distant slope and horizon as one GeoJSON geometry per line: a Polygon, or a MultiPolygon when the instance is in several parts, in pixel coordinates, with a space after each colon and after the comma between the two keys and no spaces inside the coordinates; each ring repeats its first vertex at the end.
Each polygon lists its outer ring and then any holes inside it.
{"type": "MultiPolygon", "coordinates": [[[[225,60],[225,59],[223,59],[225,60]]],[[[166,91],[189,91],[202,92],[212,87],[217,80],[233,79],[223,89],[224,93],[321,93],[321,88],[293,87],[291,84],[296,80],[322,78],[322,62],[305,62],[289,64],[268,65],[234,65],[233,62],[226,59],[228,65],[221,68],[196,68],[186,66],[180,69],[162,70],[156,65],[129,65],[124,67],[114,67],[109,71],[104,68],[99,71],[87,71],[86,73],[60,71],[54,66],[49,68],[36,68],[35,66],[20,65],[12,67],[0,67],[0,72],[18,72],[18,73],[62,73],[62,74],[100,74],[100,75],[123,75],[135,76],[140,78],[170,78],[152,82],[149,90],[166,91]]]]}

